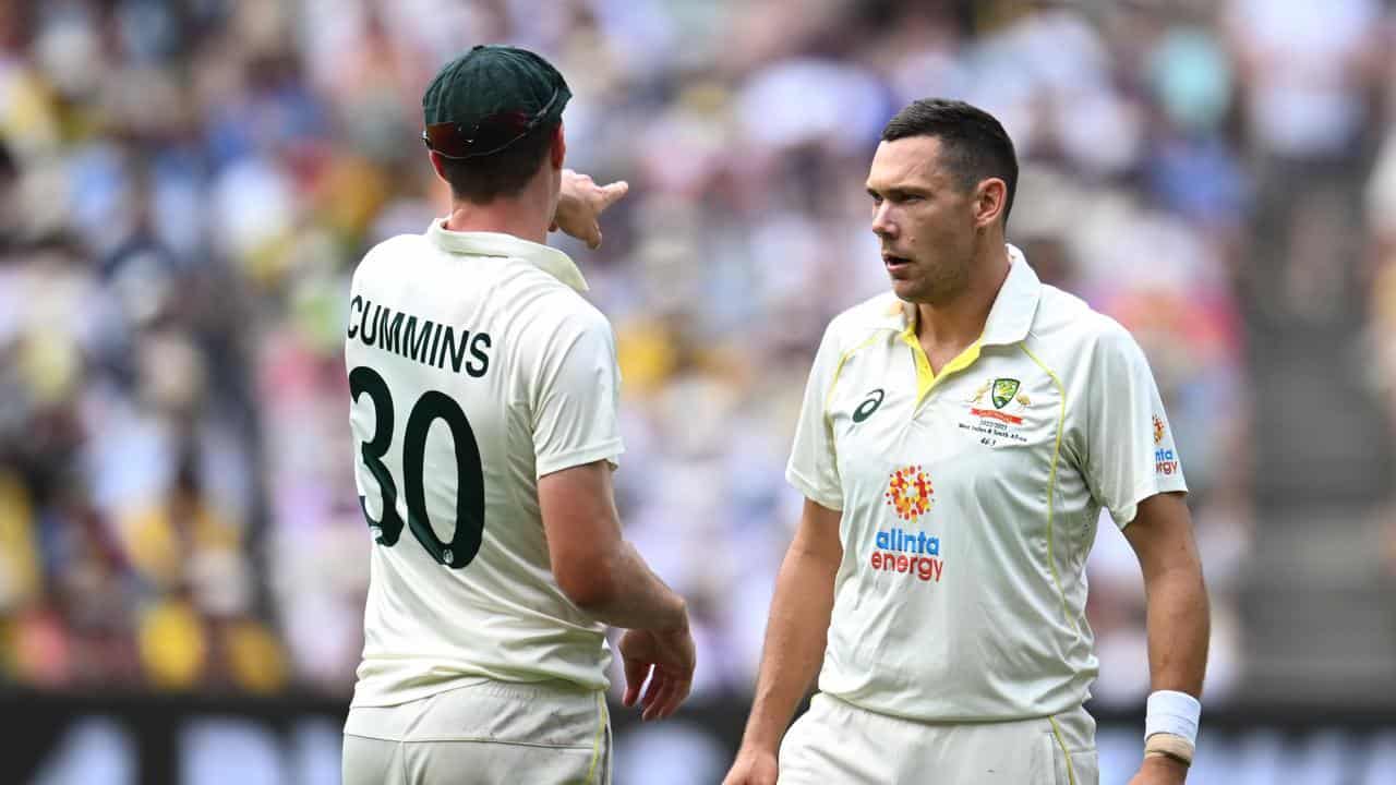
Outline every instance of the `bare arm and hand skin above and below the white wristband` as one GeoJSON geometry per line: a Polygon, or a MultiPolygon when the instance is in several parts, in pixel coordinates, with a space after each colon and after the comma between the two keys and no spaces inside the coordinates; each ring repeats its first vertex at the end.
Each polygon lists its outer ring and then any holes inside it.
{"type": "MultiPolygon", "coordinates": [[[[1212,620],[1184,494],[1145,499],[1124,534],[1143,571],[1152,690],[1201,698],[1212,620]]],[[[1171,785],[1187,774],[1188,767],[1177,758],[1150,753],[1131,785],[1171,785]]]]}

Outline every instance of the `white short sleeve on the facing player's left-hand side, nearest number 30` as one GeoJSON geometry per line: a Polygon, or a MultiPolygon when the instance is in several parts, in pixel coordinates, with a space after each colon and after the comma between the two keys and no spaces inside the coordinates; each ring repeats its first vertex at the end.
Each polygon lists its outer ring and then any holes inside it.
{"type": "Polygon", "coordinates": [[[832,337],[833,327],[824,332],[819,351],[814,356],[814,367],[804,387],[804,402],[800,406],[800,420],[794,429],[794,446],[790,448],[790,462],[786,465],[786,480],[807,499],[828,507],[843,508],[843,483],[839,479],[838,453],[833,448],[833,430],[825,413],[829,390],[838,372],[839,349],[832,337]]]}

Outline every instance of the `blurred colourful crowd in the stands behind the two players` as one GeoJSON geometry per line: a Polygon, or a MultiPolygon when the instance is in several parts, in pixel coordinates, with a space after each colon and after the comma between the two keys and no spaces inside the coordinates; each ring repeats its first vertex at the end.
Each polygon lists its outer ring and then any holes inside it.
{"type": "MultiPolygon", "coordinates": [[[[1153,365],[1206,704],[1396,705],[1393,35],[1382,0],[3,3],[0,687],[348,697],[349,275],[447,212],[431,74],[510,42],[572,87],[568,163],[631,183],[599,251],[554,244],[616,327],[621,515],[690,598],[695,701],[750,693],[808,363],[886,286],[867,165],[937,95],[1004,122],[1011,242],[1153,365]]],[[[1110,525],[1090,581],[1097,701],[1139,705],[1110,525]]]]}

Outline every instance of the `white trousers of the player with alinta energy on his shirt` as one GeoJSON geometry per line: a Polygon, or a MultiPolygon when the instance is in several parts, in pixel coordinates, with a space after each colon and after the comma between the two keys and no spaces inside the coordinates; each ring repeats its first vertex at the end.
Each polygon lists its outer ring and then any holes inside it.
{"type": "Polygon", "coordinates": [[[1099,785],[1083,708],[1013,722],[930,724],[819,693],[780,743],[780,785],[1099,785]]]}

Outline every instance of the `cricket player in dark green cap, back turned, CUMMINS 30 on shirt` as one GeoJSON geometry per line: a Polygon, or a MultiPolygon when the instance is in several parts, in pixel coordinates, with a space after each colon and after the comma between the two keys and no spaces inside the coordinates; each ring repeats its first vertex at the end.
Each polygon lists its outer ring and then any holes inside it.
{"type": "Polygon", "coordinates": [[[617,522],[614,337],[544,244],[551,226],[599,243],[625,190],[564,172],[568,98],[530,52],[448,63],[422,105],[452,211],[353,275],[349,419],[376,545],[350,785],[610,782],[607,624],[627,629],[625,705],[655,719],[688,696],[685,603],[617,522]]]}

